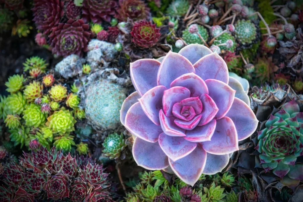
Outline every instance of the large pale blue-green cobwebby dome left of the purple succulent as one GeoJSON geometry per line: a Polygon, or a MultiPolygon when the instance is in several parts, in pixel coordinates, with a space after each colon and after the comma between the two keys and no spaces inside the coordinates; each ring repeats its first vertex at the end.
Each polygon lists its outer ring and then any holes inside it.
{"type": "Polygon", "coordinates": [[[111,81],[100,79],[88,84],[84,93],[88,123],[97,129],[115,129],[119,124],[119,109],[126,98],[125,89],[111,81]]]}

